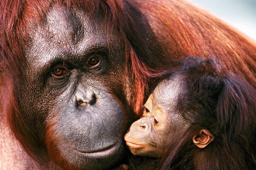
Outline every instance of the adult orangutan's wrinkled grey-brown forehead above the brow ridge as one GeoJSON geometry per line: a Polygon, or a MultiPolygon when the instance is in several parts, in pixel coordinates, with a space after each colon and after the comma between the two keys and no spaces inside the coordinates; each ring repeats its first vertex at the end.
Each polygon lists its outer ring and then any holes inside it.
{"type": "Polygon", "coordinates": [[[30,28],[25,57],[32,65],[43,66],[55,58],[82,60],[99,48],[108,51],[113,36],[108,33],[107,39],[100,14],[97,18],[82,9],[53,6],[43,23],[30,28]]]}

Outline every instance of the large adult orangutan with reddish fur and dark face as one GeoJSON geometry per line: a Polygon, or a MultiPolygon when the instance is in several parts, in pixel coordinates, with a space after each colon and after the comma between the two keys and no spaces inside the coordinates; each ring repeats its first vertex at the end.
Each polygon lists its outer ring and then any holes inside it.
{"type": "Polygon", "coordinates": [[[108,169],[158,72],[218,56],[256,85],[256,46],[184,1],[1,0],[0,169],[108,169]]]}

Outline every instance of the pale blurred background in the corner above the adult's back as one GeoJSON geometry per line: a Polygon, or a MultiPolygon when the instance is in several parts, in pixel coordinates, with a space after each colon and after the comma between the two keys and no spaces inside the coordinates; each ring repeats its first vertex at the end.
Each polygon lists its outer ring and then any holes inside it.
{"type": "Polygon", "coordinates": [[[256,0],[189,0],[256,40],[256,0]]]}

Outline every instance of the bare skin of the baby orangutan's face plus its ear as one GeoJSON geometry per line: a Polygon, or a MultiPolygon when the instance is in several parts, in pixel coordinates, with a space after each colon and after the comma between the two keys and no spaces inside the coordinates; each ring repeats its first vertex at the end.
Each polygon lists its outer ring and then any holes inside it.
{"type": "MultiPolygon", "coordinates": [[[[175,139],[181,139],[190,127],[191,122],[179,111],[175,112],[178,96],[185,92],[180,82],[177,77],[160,82],[145,103],[142,118],[125,134],[126,144],[134,155],[160,157],[168,144],[178,142],[175,139]]],[[[212,140],[207,129],[202,129],[192,139],[199,148],[206,147],[212,140]]]]}

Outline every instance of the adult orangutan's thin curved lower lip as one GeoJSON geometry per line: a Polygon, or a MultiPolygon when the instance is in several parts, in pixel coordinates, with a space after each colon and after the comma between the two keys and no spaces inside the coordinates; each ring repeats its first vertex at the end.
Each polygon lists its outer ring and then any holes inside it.
{"type": "Polygon", "coordinates": [[[112,146],[106,147],[102,150],[97,150],[95,152],[83,152],[83,151],[78,151],[78,150],[75,150],[75,151],[77,151],[87,157],[95,157],[95,158],[105,157],[105,156],[113,155],[114,153],[116,153],[116,151],[119,149],[121,144],[122,144],[122,140],[118,141],[116,144],[113,144],[112,146]]]}

